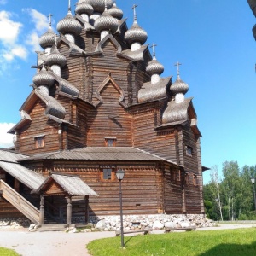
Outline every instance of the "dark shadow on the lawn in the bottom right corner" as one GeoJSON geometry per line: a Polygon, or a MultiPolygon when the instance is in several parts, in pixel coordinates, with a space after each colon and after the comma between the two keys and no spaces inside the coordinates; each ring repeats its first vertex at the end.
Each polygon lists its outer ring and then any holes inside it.
{"type": "Polygon", "coordinates": [[[247,245],[236,244],[219,244],[216,247],[208,250],[206,253],[201,253],[199,256],[253,256],[256,255],[256,242],[247,245]]]}

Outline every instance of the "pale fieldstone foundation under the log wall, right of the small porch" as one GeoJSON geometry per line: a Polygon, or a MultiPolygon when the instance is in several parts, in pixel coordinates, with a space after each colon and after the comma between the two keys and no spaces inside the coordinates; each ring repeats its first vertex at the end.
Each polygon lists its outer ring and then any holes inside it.
{"type": "MultiPolygon", "coordinates": [[[[212,227],[214,222],[205,218],[203,214],[189,215],[125,215],[123,218],[124,230],[161,230],[164,228],[188,228],[190,226],[212,227]]],[[[120,230],[119,216],[101,216],[91,218],[96,224],[96,230],[117,231],[120,230]]]]}

